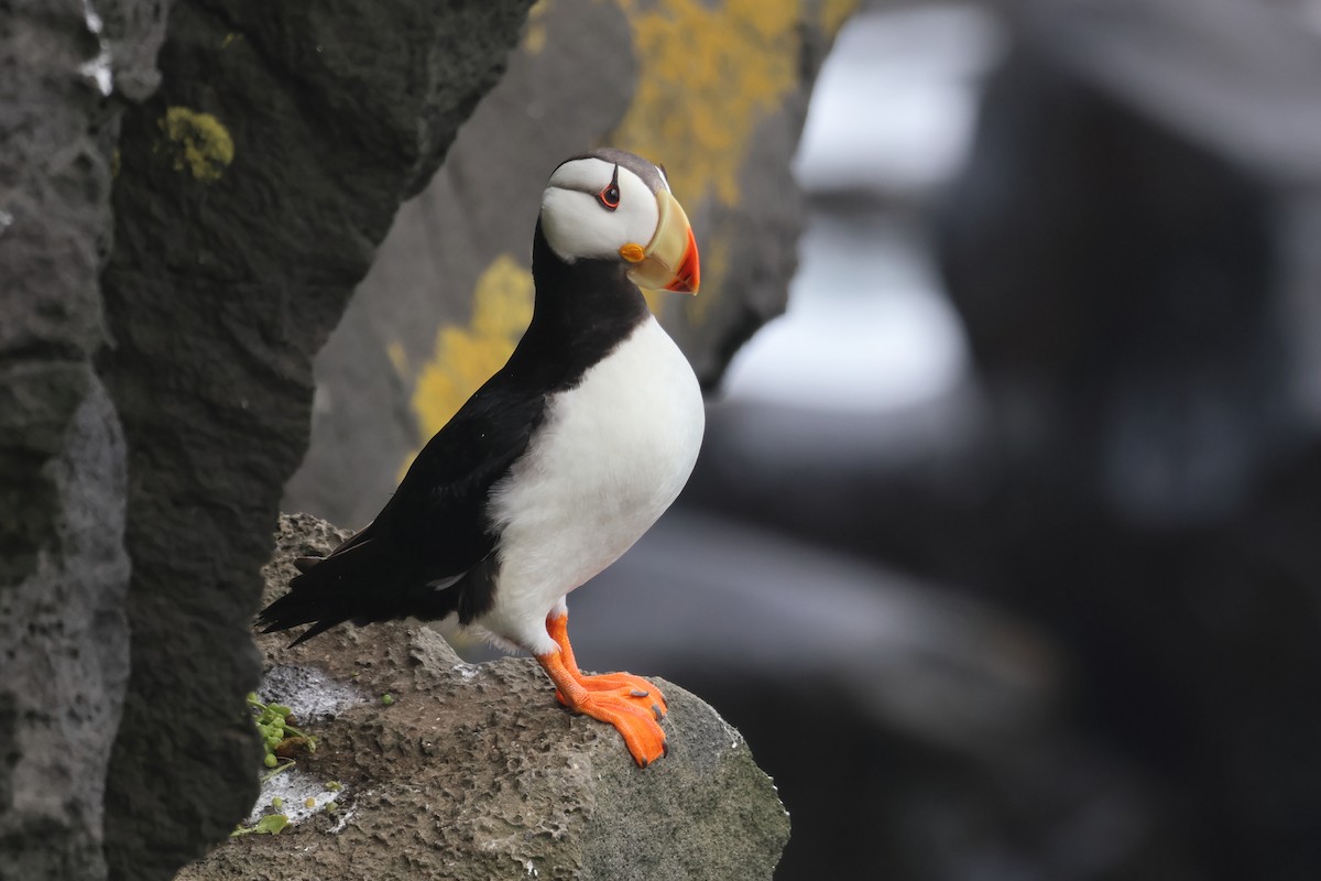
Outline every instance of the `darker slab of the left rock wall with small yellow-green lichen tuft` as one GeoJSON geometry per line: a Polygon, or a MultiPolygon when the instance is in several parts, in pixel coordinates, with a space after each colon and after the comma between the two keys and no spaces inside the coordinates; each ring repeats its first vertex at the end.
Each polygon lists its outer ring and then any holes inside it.
{"type": "Polygon", "coordinates": [[[498,78],[526,5],[189,3],[170,16],[161,88],[124,118],[102,277],[99,366],[132,476],[112,877],[168,877],[255,796],[235,774],[254,750],[250,617],[306,442],[312,358],[399,202],[498,78]]]}

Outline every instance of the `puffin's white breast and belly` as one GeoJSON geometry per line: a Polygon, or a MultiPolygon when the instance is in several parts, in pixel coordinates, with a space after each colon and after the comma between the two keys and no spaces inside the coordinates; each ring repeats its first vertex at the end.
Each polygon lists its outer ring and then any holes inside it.
{"type": "Polygon", "coordinates": [[[493,490],[501,569],[495,608],[478,623],[548,651],[546,616],[670,507],[704,425],[692,367],[649,317],[577,387],[551,399],[527,454],[493,490]]]}

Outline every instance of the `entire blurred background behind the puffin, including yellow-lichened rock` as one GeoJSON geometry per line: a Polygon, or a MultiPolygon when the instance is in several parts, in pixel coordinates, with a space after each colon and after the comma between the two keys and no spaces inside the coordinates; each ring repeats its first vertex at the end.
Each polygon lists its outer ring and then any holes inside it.
{"type": "Polygon", "coordinates": [[[779,160],[848,4],[671,5],[534,9],[321,355],[285,507],[366,522],[498,367],[526,193],[598,132],[704,236],[703,296],[657,305],[713,392],[575,638],[740,726],[794,819],[777,877],[1321,876],[1321,4],[871,0],[806,199],[779,160]],[[799,221],[787,316],[721,380],[799,221]]]}

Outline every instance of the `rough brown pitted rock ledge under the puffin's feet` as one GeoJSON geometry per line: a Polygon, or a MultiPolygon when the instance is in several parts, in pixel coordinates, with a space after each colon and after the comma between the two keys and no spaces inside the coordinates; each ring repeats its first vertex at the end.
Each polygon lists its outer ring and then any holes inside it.
{"type": "MultiPolygon", "coordinates": [[[[266,598],[284,592],[292,557],[345,536],[281,518],[266,598]]],[[[738,881],[769,878],[787,841],[789,816],[742,737],[671,683],[658,683],[670,754],[638,769],[612,728],[556,704],[528,658],[465,664],[406,623],[288,642],[259,638],[267,668],[322,671],[363,699],[300,720],[320,748],[299,769],[343,785],[338,810],[232,839],[180,881],[738,881]]]]}

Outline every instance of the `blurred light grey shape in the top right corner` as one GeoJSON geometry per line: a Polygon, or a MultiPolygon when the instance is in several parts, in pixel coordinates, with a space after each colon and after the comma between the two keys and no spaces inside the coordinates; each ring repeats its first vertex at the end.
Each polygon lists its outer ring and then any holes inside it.
{"type": "Polygon", "coordinates": [[[1021,36],[1118,100],[1281,186],[1321,182],[1314,3],[1011,0],[1021,36]]]}

